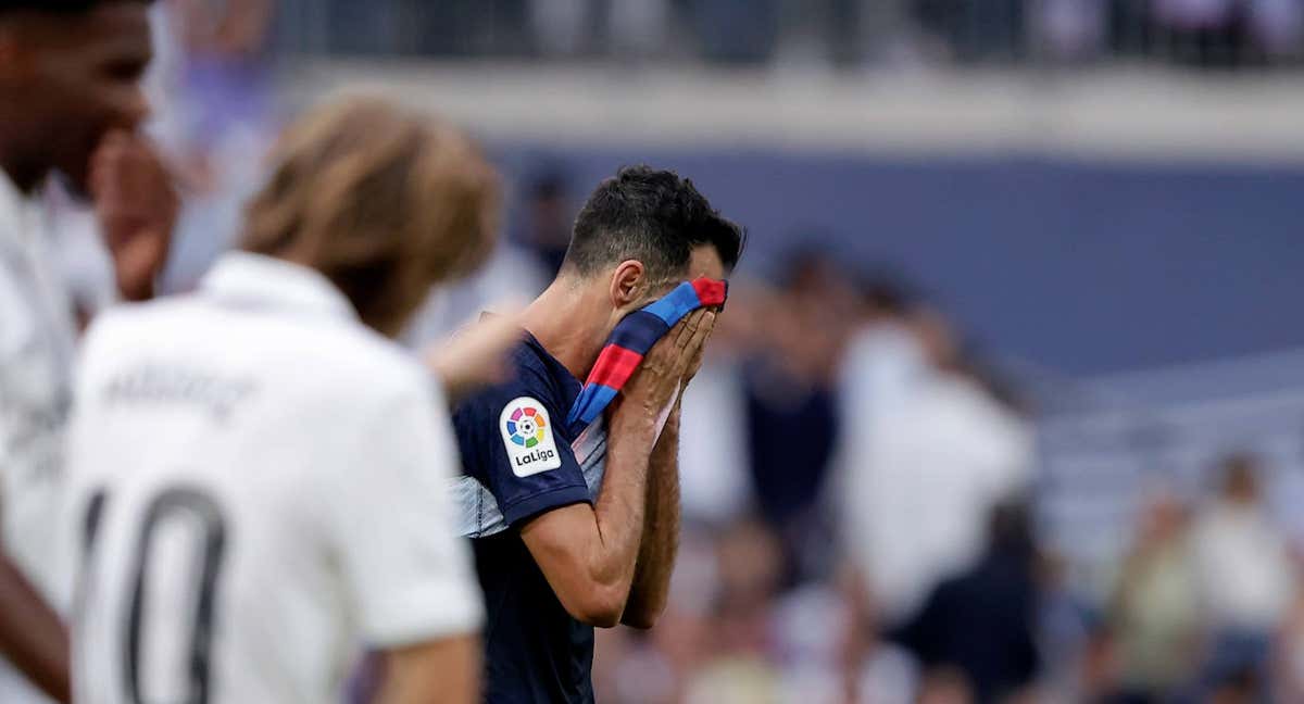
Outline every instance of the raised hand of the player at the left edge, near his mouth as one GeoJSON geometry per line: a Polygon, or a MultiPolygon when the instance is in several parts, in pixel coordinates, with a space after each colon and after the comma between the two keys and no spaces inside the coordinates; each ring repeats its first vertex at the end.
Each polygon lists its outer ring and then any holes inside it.
{"type": "Polygon", "coordinates": [[[113,130],[91,156],[90,193],[123,297],[151,297],[180,211],[172,173],[146,138],[113,130]]]}

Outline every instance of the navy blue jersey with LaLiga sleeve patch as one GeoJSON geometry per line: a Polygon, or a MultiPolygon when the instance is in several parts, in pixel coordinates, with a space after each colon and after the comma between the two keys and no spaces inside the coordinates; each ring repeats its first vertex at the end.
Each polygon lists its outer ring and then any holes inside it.
{"type": "Polygon", "coordinates": [[[593,701],[593,628],[558,601],[520,538],[528,519],[592,503],[566,415],[580,382],[533,336],[514,375],[454,413],[466,475],[493,495],[507,529],[472,540],[485,593],[485,701],[593,701]]]}

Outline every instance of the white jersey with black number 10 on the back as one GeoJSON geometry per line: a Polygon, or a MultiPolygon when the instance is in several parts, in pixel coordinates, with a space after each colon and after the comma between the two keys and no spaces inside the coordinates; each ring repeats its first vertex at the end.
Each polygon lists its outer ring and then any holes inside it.
{"type": "Polygon", "coordinates": [[[316,271],[103,314],[68,454],[80,703],[338,701],[359,645],[480,626],[443,399],[316,271]]]}

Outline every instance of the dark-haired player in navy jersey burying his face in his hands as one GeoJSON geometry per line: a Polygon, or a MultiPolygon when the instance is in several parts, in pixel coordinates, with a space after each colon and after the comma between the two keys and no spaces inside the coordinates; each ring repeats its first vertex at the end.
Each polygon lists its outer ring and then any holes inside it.
{"type": "Polygon", "coordinates": [[[724,278],[742,244],[738,226],[690,181],[622,169],[580,210],[561,272],[526,309],[529,336],[512,379],[458,407],[469,477],[460,486],[489,494],[463,494],[475,497],[466,531],[489,605],[488,701],[592,701],[593,627],[648,628],[665,608],[678,538],[679,391],[716,312],[690,313],[647,353],[599,448],[583,446],[567,415],[619,322],[682,282],[724,278]],[[494,511],[480,510],[490,503],[494,511]],[[501,524],[480,520],[498,511],[501,524]]]}

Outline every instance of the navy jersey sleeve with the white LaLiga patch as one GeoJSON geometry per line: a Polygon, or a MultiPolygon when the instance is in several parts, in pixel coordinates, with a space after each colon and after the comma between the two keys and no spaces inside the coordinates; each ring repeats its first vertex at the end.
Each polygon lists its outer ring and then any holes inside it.
{"type": "Polygon", "coordinates": [[[464,403],[455,416],[467,475],[498,502],[509,525],[572,503],[592,503],[575,452],[557,424],[565,412],[529,370],[464,403]]]}

